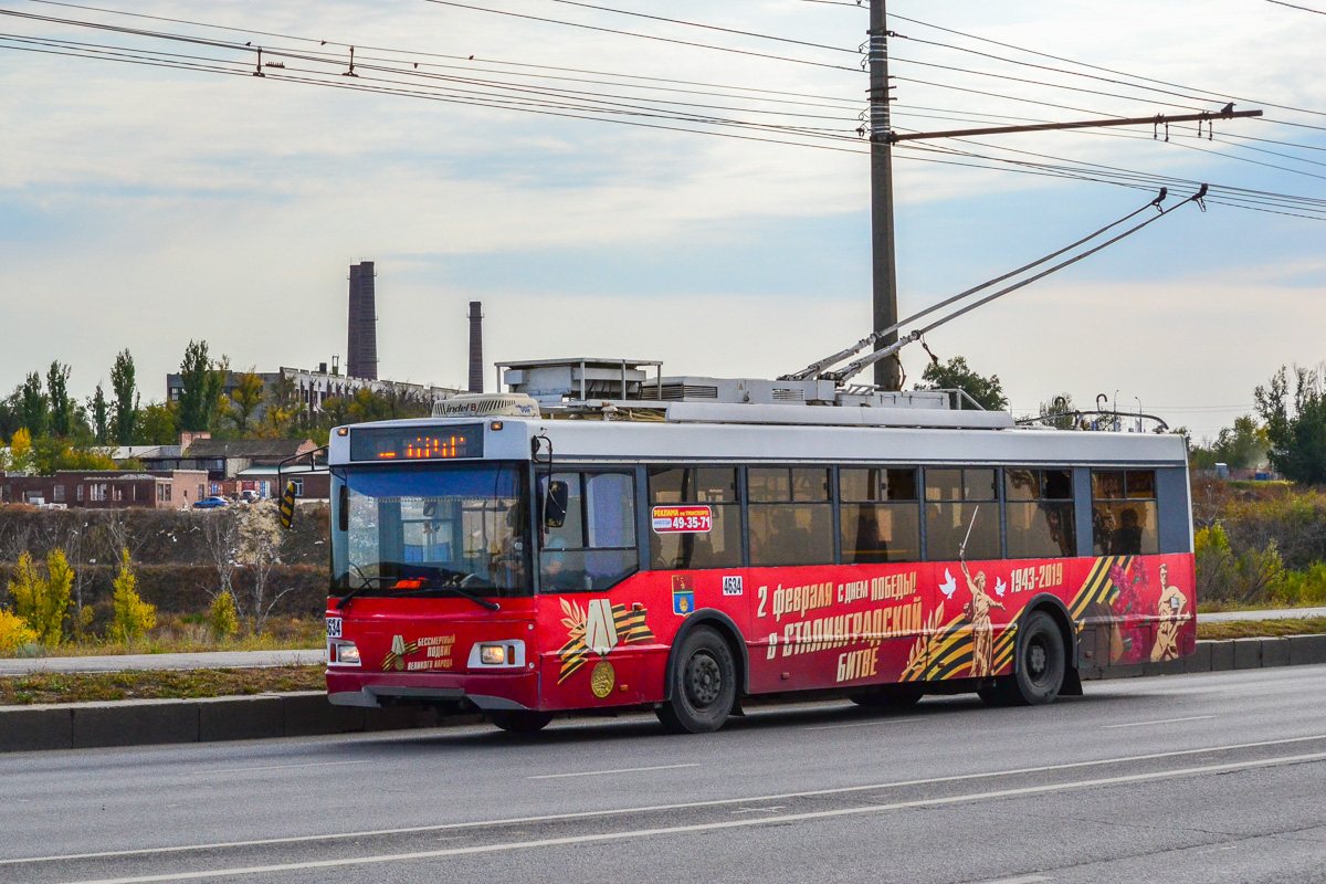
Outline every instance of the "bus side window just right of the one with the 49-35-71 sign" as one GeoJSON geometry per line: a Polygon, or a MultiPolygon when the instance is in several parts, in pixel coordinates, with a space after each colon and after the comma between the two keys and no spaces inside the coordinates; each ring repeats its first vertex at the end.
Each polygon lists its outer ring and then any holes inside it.
{"type": "Polygon", "coordinates": [[[751,565],[831,565],[827,468],[751,467],[751,565]]]}

